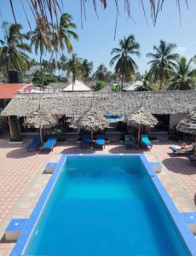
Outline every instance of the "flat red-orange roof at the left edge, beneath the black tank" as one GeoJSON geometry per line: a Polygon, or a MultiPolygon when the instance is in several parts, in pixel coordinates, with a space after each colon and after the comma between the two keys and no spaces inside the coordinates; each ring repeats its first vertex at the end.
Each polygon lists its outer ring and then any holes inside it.
{"type": "Polygon", "coordinates": [[[0,84],[0,99],[12,99],[26,84],[0,84]]]}

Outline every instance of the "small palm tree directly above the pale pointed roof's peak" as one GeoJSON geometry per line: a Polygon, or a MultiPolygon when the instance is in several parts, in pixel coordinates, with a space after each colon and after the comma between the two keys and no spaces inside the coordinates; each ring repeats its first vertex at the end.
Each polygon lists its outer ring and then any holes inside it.
{"type": "Polygon", "coordinates": [[[78,55],[76,54],[72,54],[72,57],[66,62],[65,69],[67,71],[68,76],[70,73],[72,73],[72,90],[76,78],[82,76],[84,72],[81,62],[82,60],[78,58],[78,55]]]}

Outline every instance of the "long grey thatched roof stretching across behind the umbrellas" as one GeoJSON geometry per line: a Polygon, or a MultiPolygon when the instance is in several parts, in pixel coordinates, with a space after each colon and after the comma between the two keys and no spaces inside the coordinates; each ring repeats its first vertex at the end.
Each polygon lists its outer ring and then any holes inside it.
{"type": "Polygon", "coordinates": [[[3,115],[26,116],[37,110],[67,116],[83,115],[93,102],[93,107],[102,114],[125,115],[141,106],[151,113],[187,113],[196,108],[196,90],[186,91],[131,91],[131,92],[61,92],[61,93],[17,93],[3,115]]]}

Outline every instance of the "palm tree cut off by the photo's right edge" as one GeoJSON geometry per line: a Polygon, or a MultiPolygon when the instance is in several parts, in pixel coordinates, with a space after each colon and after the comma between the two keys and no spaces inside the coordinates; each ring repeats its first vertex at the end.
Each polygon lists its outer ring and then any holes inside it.
{"type": "Polygon", "coordinates": [[[167,90],[191,90],[195,88],[196,69],[191,67],[195,56],[189,61],[185,57],[181,57],[176,62],[173,77],[170,79],[171,84],[167,90]]]}

